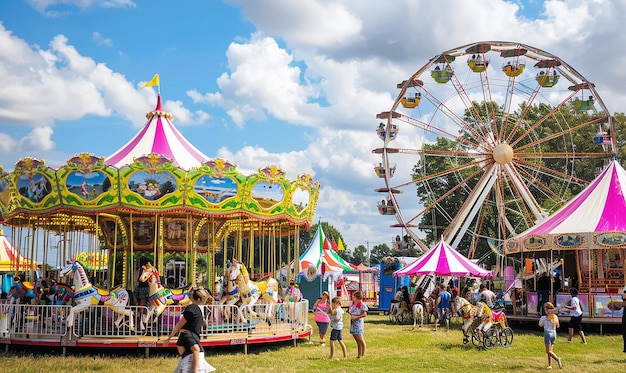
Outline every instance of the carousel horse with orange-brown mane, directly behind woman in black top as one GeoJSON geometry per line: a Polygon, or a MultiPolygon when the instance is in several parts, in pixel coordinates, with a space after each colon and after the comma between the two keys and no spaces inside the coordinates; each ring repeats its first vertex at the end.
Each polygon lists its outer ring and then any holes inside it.
{"type": "Polygon", "coordinates": [[[148,263],[141,266],[143,272],[139,276],[139,281],[148,282],[149,294],[148,297],[148,313],[143,319],[143,322],[154,322],[170,304],[178,304],[181,306],[188,306],[191,304],[191,298],[189,297],[189,290],[191,285],[187,285],[181,289],[169,289],[161,285],[161,278],[159,272],[152,264],[148,263]]]}

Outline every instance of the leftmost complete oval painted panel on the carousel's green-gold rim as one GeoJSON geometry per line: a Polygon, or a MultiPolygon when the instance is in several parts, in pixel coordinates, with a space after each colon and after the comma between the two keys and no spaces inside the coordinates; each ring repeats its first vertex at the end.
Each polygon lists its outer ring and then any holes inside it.
{"type": "Polygon", "coordinates": [[[54,170],[43,161],[22,158],[12,173],[12,187],[16,188],[16,210],[28,212],[50,211],[59,206],[60,195],[54,170]]]}

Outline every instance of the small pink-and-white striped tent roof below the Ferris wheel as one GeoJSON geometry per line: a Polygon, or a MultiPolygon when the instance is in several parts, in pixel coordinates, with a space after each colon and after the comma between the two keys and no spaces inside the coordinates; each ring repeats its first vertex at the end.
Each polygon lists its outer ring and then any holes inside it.
{"type": "Polygon", "coordinates": [[[413,263],[393,273],[398,276],[473,276],[491,277],[493,274],[459,254],[441,240],[413,263]]]}

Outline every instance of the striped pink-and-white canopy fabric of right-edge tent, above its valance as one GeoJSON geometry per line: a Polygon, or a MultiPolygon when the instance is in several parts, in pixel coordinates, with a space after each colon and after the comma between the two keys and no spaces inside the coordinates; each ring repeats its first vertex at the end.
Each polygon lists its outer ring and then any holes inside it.
{"type": "Polygon", "coordinates": [[[520,236],[626,232],[626,171],[617,161],[545,221],[520,236]]]}

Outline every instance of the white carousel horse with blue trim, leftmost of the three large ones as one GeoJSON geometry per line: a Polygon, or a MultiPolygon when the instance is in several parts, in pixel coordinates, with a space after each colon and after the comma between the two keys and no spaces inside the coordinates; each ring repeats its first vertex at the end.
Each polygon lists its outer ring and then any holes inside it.
{"type": "Polygon", "coordinates": [[[85,273],[85,269],[77,261],[68,262],[68,264],[61,269],[61,272],[59,272],[59,276],[63,277],[69,273],[74,274],[74,287],[76,288],[74,292],[74,303],[76,305],[70,309],[67,315],[66,324],[68,327],[74,325],[75,313],[82,312],[91,305],[103,304],[119,315],[114,322],[117,328],[120,327],[120,323],[124,319],[124,316],[126,316],[128,317],[130,330],[135,330],[133,311],[126,308],[130,301],[130,296],[126,289],[117,287],[112,290],[107,290],[92,286],[87,277],[87,273],[85,273]]]}

